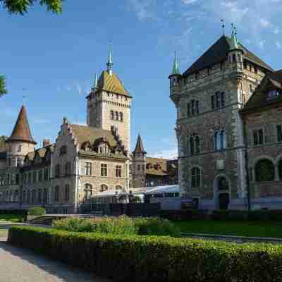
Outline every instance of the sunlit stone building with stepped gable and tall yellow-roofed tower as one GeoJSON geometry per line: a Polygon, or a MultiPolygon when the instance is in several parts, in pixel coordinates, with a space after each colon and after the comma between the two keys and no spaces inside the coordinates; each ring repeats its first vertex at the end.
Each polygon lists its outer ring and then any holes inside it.
{"type": "Polygon", "coordinates": [[[111,51],[106,66],[87,95],[87,125],[63,118],[54,144],[44,140],[35,149],[22,106],[11,137],[0,137],[0,209],[44,206],[49,213],[70,214],[96,192],[145,186],[141,137],[130,153],[133,97],[113,71],[111,51]]]}

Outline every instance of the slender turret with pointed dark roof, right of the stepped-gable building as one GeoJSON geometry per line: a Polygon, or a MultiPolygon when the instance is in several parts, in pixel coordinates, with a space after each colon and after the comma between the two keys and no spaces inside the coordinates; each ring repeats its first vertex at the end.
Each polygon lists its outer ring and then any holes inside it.
{"type": "Polygon", "coordinates": [[[133,188],[145,187],[146,154],[141,136],[138,135],[132,158],[133,188]]]}

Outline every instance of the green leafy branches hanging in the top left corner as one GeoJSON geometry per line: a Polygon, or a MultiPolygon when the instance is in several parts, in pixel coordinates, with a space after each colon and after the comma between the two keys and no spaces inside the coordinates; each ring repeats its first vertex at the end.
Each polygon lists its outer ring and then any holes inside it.
{"type": "MultiPolygon", "coordinates": [[[[61,13],[63,0],[39,0],[41,6],[47,6],[47,11],[61,13]]],[[[24,15],[38,0],[0,0],[9,13],[24,15]]]]}

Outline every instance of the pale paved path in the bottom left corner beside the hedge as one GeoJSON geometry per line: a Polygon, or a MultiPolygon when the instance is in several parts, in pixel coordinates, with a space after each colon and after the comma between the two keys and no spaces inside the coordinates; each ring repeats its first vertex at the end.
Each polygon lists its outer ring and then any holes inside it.
{"type": "MultiPolygon", "coordinates": [[[[10,224],[7,224],[10,225],[10,224]]],[[[0,228],[4,225],[0,224],[0,228]]],[[[0,238],[0,282],[109,282],[68,264],[14,247],[0,238]]]]}

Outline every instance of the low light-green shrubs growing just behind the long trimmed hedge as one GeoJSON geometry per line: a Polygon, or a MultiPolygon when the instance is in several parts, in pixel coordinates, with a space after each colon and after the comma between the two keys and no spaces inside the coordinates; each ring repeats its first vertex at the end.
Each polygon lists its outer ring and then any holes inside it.
{"type": "Polygon", "coordinates": [[[171,222],[157,217],[130,218],[128,216],[100,217],[94,219],[61,219],[54,221],[54,228],[72,232],[97,232],[125,235],[171,235],[180,231],[171,222]]]}

